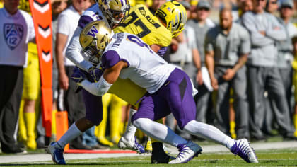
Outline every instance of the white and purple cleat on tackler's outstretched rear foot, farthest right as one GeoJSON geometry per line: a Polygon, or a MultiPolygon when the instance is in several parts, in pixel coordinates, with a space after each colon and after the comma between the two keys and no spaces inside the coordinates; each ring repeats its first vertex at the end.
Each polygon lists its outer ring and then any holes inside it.
{"type": "Polygon", "coordinates": [[[248,139],[235,140],[235,144],[231,147],[231,152],[235,155],[240,156],[248,163],[258,163],[255,151],[250,146],[248,139]]]}

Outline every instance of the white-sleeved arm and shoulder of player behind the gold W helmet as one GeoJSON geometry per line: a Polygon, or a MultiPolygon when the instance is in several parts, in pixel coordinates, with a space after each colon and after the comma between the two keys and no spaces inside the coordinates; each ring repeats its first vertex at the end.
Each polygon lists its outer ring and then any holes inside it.
{"type": "Polygon", "coordinates": [[[81,15],[81,18],[78,21],[78,27],[74,31],[74,35],[72,36],[66,50],[66,57],[70,59],[71,62],[74,62],[76,66],[85,71],[88,71],[88,69],[93,65],[83,59],[81,54],[81,45],[79,44],[79,35],[81,34],[81,30],[83,30],[83,28],[92,21],[105,21],[105,23],[109,25],[97,3],[90,6],[90,8],[81,15]]]}

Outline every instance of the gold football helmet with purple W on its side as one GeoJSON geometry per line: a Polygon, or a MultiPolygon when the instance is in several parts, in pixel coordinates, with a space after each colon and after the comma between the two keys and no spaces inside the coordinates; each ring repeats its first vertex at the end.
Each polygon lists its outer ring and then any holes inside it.
{"type": "Polygon", "coordinates": [[[84,59],[93,64],[100,63],[101,55],[110,42],[112,30],[104,21],[94,21],[86,25],[79,35],[84,59]]]}

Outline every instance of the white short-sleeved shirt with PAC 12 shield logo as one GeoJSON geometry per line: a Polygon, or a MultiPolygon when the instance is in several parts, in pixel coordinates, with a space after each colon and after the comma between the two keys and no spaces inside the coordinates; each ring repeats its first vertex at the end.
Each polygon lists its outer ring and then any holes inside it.
{"type": "Polygon", "coordinates": [[[25,67],[28,42],[35,42],[32,17],[22,10],[11,15],[5,8],[1,8],[0,33],[0,64],[25,67]]]}

